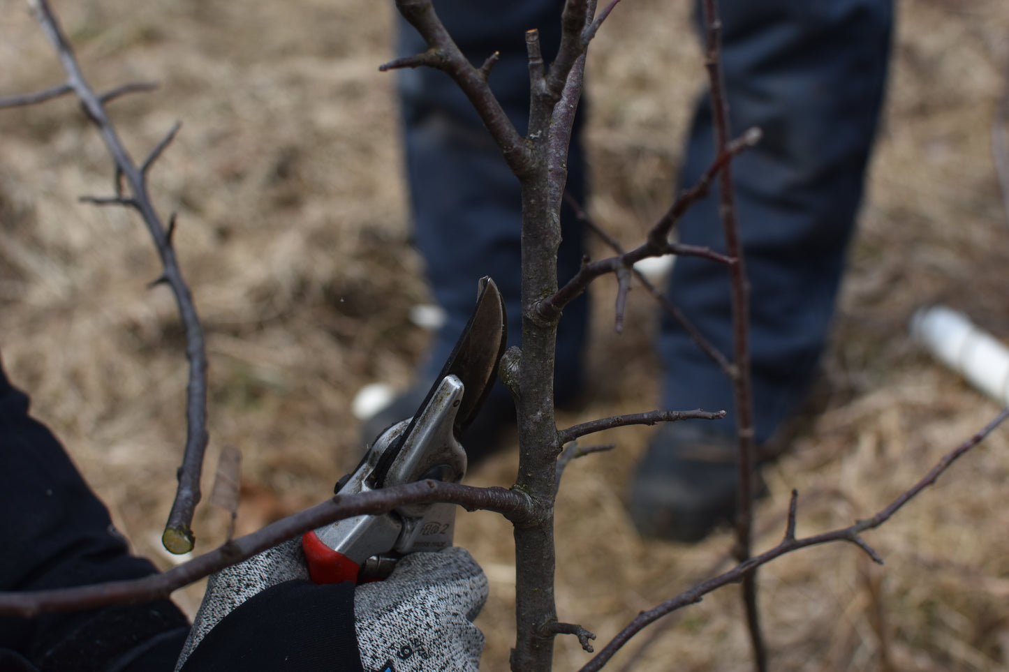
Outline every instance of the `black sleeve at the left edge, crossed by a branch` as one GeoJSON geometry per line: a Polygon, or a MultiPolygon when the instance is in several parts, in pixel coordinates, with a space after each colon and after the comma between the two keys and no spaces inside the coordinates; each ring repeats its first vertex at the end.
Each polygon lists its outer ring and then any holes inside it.
{"type": "MultiPolygon", "coordinates": [[[[60,442],[28,416],[0,368],[0,590],[38,590],[155,571],[129,554],[60,442]]],[[[189,623],[170,600],[0,618],[3,669],[171,671],[189,623]]]]}

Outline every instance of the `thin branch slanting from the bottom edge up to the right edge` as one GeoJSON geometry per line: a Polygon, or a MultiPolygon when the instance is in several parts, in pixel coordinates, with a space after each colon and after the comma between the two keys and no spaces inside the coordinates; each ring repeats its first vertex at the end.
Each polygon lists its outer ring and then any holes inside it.
{"type": "Polygon", "coordinates": [[[760,555],[748,558],[746,561],[741,562],[728,571],[722,572],[714,578],[699,583],[689,590],[681,592],[679,595],[666,600],[653,609],[642,611],[626,628],[624,628],[624,630],[622,630],[616,637],[606,644],[606,646],[598,653],[598,655],[595,656],[595,658],[585,664],[579,672],[595,672],[596,670],[601,669],[603,665],[605,665],[606,662],[612,658],[613,654],[621,649],[621,647],[627,644],[632,637],[640,633],[649,624],[654,623],[658,619],[661,619],[676,609],[687,606],[688,604],[699,602],[704,595],[720,588],[723,585],[743,581],[745,577],[752,574],[757,567],[767,564],[768,562],[781,557],[786,553],[791,553],[801,548],[808,548],[810,546],[844,541],[855,544],[865,551],[874,562],[882,564],[883,560],[880,558],[879,554],[877,554],[868,544],[865,543],[865,541],[862,540],[862,533],[868,530],[874,530],[890,520],[890,518],[893,517],[893,515],[896,514],[901,507],[918,495],[923,489],[934,483],[935,480],[946,469],[948,469],[955,461],[966,454],[974,446],[981,443],[981,441],[991,434],[995,428],[1001,425],[1006,418],[1009,418],[1009,407],[1003,409],[992,422],[986,425],[970,439],[960,444],[949,453],[946,453],[942,459],[939,460],[939,462],[933,466],[927,474],[925,474],[924,477],[901,493],[900,496],[890,502],[890,505],[885,509],[878,512],[872,518],[857,521],[854,525],[847,528],[825,532],[819,535],[812,535],[810,537],[803,537],[802,539],[795,539],[794,509],[796,495],[793,490],[793,496],[789,501],[788,525],[784,538],[777,546],[761,553],[760,555]]]}

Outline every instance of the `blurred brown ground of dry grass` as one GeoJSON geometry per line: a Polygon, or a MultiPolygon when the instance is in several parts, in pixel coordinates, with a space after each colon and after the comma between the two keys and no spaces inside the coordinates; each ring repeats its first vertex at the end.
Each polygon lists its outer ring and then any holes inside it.
{"type": "MultiPolygon", "coordinates": [[[[61,2],[93,82],[156,80],[115,103],[142,155],[180,119],[154,172],[163,212],[207,329],[209,464],[225,443],[244,455],[240,531],[326,496],[357,450],[349,402],[364,383],[406,384],[426,336],[409,307],[426,299],[397,146],[391,3],[61,2]]],[[[589,65],[591,209],[625,240],[669,201],[690,101],[702,82],[689,3],[628,0],[589,65]]],[[[1003,81],[1009,5],[908,0],[889,104],[852,255],[823,412],[767,472],[758,548],[781,534],[788,492],[802,493],[799,533],[848,525],[886,503],[996,412],[906,336],[912,311],[945,302],[1009,334],[1006,216],[988,149],[1003,81]]],[[[61,81],[22,3],[0,2],[0,93],[61,81]]],[[[81,205],[111,188],[109,160],[71,100],[0,114],[0,343],[34,412],[64,439],[138,553],[158,549],[183,442],[186,380],[171,296],[136,218],[81,205]]],[[[594,293],[598,324],[587,406],[562,424],[654,407],[655,360],[643,356],[654,309],[633,293],[634,328],[610,323],[612,287],[594,293]]],[[[560,615],[607,641],[638,610],[722,561],[727,534],[696,547],[643,541],[624,485],[647,430],[570,468],[559,502],[560,615]]],[[[867,536],[857,550],[804,551],[763,570],[764,623],[779,670],[992,670],[1009,666],[1009,475],[1006,430],[867,536]],[[1003,502],[1003,503],[1000,503],[1003,502]]],[[[471,474],[508,485],[514,456],[471,474]]],[[[211,470],[212,471],[212,470],[211,470]]],[[[209,488],[209,478],[206,486],[209,488]]],[[[200,548],[225,516],[203,509],[200,548]]],[[[507,669],[514,625],[509,526],[460,516],[458,543],[491,582],[480,618],[483,669],[507,669]]],[[[192,611],[200,588],[178,593],[192,611]]],[[[643,635],[636,670],[748,668],[737,592],[725,589],[643,635]]],[[[586,660],[564,638],[557,669],[586,660]]]]}

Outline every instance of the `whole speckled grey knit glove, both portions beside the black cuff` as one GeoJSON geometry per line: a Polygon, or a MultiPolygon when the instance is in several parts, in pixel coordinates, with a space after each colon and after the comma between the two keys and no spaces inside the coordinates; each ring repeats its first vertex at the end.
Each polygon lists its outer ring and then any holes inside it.
{"type": "MultiPolygon", "coordinates": [[[[212,575],[177,672],[239,604],[272,585],[308,577],[297,539],[212,575]]],[[[486,598],[487,579],[465,549],[408,555],[387,579],[354,591],[354,630],[364,669],[478,670],[483,634],[471,621],[486,598]]]]}

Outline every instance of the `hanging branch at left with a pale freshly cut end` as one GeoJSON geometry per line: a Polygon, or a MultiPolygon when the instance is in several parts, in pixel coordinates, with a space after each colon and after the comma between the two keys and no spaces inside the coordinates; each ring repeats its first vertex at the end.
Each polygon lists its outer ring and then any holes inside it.
{"type": "MultiPolygon", "coordinates": [[[[150,161],[156,158],[159,149],[155,151],[144,164],[144,171],[137,169],[126,148],[123,146],[115,127],[105,113],[102,99],[88,85],[84,74],[74,55],[73,47],[67,39],[57,16],[49,8],[47,0],[29,0],[35,19],[45,36],[51,42],[67,72],[67,84],[73,88],[80,99],[85,112],[98,126],[102,139],[115,163],[116,198],[127,201],[137,210],[157,247],[161,259],[163,276],[172,287],[176,304],[186,331],[186,357],[189,359],[189,381],[187,383],[186,402],[186,450],[183,464],[179,470],[179,489],[169,521],[165,525],[162,543],[174,553],[186,553],[193,548],[194,538],[191,530],[193,512],[200,500],[200,472],[203,468],[203,456],[207,448],[207,355],[204,346],[203,328],[193,303],[193,297],[186,286],[176,260],[175,250],[167,244],[167,234],[157,212],[154,210],[147,191],[145,170],[150,161]],[[121,195],[120,184],[125,181],[132,193],[131,197],[121,195]]],[[[171,139],[170,137],[166,139],[171,139]]],[[[161,145],[166,144],[165,140],[161,145]]],[[[160,145],[159,145],[160,146],[160,145]]],[[[163,147],[161,147],[163,149],[163,147]]],[[[97,202],[97,201],[93,201],[97,202]]]]}

